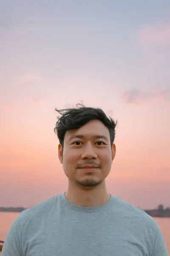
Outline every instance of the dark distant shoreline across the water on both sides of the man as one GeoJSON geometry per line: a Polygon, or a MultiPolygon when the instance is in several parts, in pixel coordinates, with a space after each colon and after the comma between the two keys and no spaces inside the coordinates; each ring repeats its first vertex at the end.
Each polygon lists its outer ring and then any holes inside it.
{"type": "MultiPolygon", "coordinates": [[[[0,212],[23,212],[28,208],[24,207],[0,207],[0,212]]],[[[164,209],[164,206],[162,204],[159,205],[158,209],[151,209],[151,210],[144,210],[148,215],[151,217],[160,217],[160,218],[170,218],[170,208],[167,207],[164,209]]]]}

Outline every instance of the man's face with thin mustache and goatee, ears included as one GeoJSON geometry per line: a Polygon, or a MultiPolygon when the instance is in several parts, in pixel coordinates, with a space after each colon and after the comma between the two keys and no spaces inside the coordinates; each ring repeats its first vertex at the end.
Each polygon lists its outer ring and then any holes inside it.
{"type": "Polygon", "coordinates": [[[67,131],[64,148],[59,144],[59,160],[69,182],[94,187],[108,176],[116,152],[111,147],[108,128],[92,120],[77,130],[67,131]]]}

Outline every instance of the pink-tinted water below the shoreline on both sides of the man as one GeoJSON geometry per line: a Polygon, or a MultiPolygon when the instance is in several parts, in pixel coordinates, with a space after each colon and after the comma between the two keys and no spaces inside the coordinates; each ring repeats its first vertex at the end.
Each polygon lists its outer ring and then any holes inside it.
{"type": "MultiPolygon", "coordinates": [[[[5,240],[6,234],[12,222],[19,215],[18,212],[0,212],[0,240],[5,240]]],[[[167,250],[170,254],[170,218],[155,218],[167,245],[167,250]]]]}

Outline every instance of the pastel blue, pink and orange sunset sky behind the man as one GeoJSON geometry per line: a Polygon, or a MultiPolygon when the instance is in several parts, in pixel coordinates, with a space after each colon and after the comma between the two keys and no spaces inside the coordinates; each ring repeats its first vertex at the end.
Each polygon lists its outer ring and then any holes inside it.
{"type": "Polygon", "coordinates": [[[0,1],[0,206],[65,192],[55,108],[118,121],[108,191],[170,207],[170,1],[0,1]]]}

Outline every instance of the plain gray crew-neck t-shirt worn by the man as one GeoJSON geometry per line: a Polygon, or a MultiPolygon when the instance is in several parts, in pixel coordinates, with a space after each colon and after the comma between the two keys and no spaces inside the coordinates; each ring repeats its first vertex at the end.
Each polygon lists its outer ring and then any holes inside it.
{"type": "Polygon", "coordinates": [[[168,256],[156,221],[112,196],[80,207],[57,195],[27,209],[12,224],[2,256],[168,256]]]}

